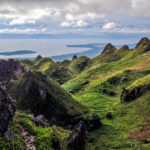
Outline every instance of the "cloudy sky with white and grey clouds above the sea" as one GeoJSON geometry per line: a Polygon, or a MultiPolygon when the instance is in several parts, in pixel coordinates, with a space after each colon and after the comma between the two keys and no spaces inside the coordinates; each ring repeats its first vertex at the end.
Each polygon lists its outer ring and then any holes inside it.
{"type": "Polygon", "coordinates": [[[0,36],[150,36],[150,0],[0,0],[0,36]]]}

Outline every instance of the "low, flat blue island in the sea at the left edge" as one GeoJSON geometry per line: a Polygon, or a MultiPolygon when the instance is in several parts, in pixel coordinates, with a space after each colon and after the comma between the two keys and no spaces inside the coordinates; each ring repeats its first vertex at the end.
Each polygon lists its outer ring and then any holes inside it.
{"type": "Polygon", "coordinates": [[[32,50],[18,50],[18,51],[11,51],[11,52],[0,52],[0,55],[12,56],[12,55],[34,54],[34,53],[37,52],[32,50]]]}

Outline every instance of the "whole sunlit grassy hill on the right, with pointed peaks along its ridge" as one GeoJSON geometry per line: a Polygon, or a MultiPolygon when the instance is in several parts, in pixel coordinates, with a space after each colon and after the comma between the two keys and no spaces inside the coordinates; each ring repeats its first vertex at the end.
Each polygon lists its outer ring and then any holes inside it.
{"type": "Polygon", "coordinates": [[[150,149],[149,51],[148,38],[134,49],[108,44],[89,69],[62,85],[102,120],[102,127],[89,133],[95,140],[88,150],[150,149]]]}

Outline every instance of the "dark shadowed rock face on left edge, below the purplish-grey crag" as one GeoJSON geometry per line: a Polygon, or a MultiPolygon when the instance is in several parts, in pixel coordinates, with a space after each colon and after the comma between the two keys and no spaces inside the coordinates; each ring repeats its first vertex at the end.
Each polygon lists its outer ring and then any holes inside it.
{"type": "Polygon", "coordinates": [[[11,125],[15,110],[15,102],[0,87],[0,133],[3,136],[11,125]]]}

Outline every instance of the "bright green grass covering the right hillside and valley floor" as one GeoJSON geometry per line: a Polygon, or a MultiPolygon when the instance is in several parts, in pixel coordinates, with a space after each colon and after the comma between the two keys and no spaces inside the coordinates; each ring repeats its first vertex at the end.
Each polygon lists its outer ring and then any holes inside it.
{"type": "Polygon", "coordinates": [[[145,150],[150,147],[143,140],[129,138],[130,133],[140,131],[147,119],[143,116],[150,112],[149,90],[144,90],[144,94],[136,97],[133,102],[120,103],[123,88],[149,85],[148,64],[146,69],[143,66],[135,68],[137,64],[149,60],[149,52],[144,53],[146,48],[144,46],[128,51],[120,60],[109,63],[94,59],[95,62],[88,70],[62,85],[75,99],[93,109],[101,118],[102,127],[88,132],[88,150],[145,150]],[[112,113],[112,119],[106,117],[108,112],[112,113]]]}

